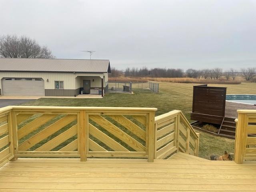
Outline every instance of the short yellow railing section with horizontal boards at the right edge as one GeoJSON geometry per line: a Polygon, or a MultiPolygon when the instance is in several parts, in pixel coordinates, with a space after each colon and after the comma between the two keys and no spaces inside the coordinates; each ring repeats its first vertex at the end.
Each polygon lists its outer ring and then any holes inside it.
{"type": "Polygon", "coordinates": [[[235,162],[242,164],[244,160],[256,160],[256,110],[237,110],[235,136],[235,162]]]}

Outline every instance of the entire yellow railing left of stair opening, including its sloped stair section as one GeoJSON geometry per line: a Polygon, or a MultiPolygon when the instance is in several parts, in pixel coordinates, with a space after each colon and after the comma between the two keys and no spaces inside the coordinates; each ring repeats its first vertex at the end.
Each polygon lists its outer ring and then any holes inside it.
{"type": "Polygon", "coordinates": [[[181,111],[156,108],[0,108],[0,164],[18,157],[155,158],[198,156],[199,137],[181,111]]]}

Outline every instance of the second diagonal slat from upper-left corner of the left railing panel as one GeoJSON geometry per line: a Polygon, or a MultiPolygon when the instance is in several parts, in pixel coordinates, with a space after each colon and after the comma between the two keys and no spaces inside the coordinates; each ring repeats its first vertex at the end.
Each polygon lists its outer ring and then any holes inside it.
{"type": "Polygon", "coordinates": [[[18,130],[18,139],[21,139],[22,137],[26,136],[30,132],[36,130],[38,127],[41,125],[45,124],[52,118],[56,117],[57,115],[52,115],[52,114],[44,114],[41,115],[40,117],[36,118],[32,122],[26,124],[22,128],[18,130]]]}

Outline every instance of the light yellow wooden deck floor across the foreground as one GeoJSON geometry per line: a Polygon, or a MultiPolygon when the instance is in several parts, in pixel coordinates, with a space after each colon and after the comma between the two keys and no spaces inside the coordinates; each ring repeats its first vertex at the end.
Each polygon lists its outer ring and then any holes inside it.
{"type": "Polygon", "coordinates": [[[0,178],[1,192],[255,191],[256,163],[18,158],[0,178]]]}

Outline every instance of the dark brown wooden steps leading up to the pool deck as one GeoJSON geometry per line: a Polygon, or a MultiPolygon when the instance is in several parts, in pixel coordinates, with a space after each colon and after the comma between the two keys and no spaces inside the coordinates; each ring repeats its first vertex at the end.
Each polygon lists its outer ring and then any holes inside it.
{"type": "Polygon", "coordinates": [[[220,126],[220,130],[218,134],[226,137],[235,138],[235,134],[236,134],[235,119],[224,117],[224,120],[220,126]]]}

